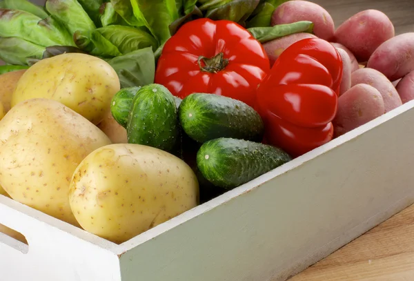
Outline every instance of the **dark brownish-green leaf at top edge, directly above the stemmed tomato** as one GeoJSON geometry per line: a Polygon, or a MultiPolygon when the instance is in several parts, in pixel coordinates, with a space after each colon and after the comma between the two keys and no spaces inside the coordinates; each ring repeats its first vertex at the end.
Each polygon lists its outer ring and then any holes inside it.
{"type": "Polygon", "coordinates": [[[208,10],[205,17],[213,20],[227,19],[244,26],[246,19],[255,11],[257,5],[259,5],[259,0],[233,0],[223,6],[208,10]]]}

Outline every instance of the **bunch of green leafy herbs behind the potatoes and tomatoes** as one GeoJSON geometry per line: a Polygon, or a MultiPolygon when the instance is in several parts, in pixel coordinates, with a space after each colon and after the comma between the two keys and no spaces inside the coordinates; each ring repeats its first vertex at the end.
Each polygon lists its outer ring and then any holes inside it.
{"type": "Polygon", "coordinates": [[[2,0],[0,59],[16,69],[81,52],[106,60],[121,87],[131,87],[151,79],[164,43],[193,19],[235,21],[261,41],[311,31],[309,21],[270,28],[273,10],[284,1],[48,0],[40,7],[28,0],[2,0]]]}

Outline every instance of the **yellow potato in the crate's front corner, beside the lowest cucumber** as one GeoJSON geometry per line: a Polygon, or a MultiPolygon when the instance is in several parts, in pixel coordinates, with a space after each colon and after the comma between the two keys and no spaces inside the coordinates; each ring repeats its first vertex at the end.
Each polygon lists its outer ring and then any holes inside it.
{"type": "Polygon", "coordinates": [[[197,206],[199,186],[190,166],[170,153],[111,144],[83,159],[69,196],[83,229],[121,243],[197,206]]]}

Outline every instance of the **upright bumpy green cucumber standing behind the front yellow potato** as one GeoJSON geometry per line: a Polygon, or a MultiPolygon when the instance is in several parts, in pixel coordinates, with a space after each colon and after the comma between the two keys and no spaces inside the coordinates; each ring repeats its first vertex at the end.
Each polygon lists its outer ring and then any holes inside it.
{"type": "Polygon", "coordinates": [[[126,132],[129,144],[144,144],[173,154],[179,151],[177,106],[166,87],[149,84],[138,91],[126,132]]]}

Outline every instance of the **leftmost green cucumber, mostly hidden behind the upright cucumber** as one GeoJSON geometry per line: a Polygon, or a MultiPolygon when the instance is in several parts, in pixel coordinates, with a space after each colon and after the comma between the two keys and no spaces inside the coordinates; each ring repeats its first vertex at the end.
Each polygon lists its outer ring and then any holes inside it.
{"type": "Polygon", "coordinates": [[[126,128],[126,124],[128,123],[132,100],[137,95],[139,89],[141,87],[123,88],[112,97],[110,112],[115,121],[124,128],[126,128]]]}

